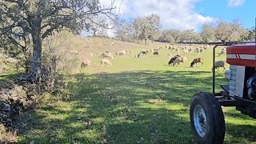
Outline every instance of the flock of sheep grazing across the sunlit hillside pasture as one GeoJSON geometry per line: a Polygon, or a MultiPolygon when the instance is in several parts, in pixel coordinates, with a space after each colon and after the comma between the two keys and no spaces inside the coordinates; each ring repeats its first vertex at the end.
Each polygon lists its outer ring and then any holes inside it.
{"type": "MultiPolygon", "coordinates": [[[[195,49],[192,46],[166,46],[166,50],[174,50],[177,54],[174,55],[173,58],[170,58],[170,61],[168,62],[169,66],[178,66],[180,63],[183,63],[184,65],[186,65],[187,62],[187,58],[184,56],[181,56],[181,52],[182,54],[190,54],[190,53],[197,53],[200,54],[202,53],[204,50],[209,49],[210,46],[206,45],[206,46],[196,46],[195,49]]],[[[162,50],[163,47],[162,46],[158,46],[157,48],[154,49],[150,49],[150,50],[141,50],[138,54],[134,55],[134,58],[141,58],[142,56],[145,56],[147,54],[153,54],[154,56],[158,56],[160,53],[160,50],[162,50]]],[[[133,54],[134,52],[132,50],[118,50],[115,52],[116,56],[123,56],[126,54],[133,54]]],[[[78,54],[77,52],[73,52],[73,54],[78,54]]],[[[222,51],[218,54],[218,56],[221,56],[222,54],[226,54],[226,50],[222,49],[222,51]]],[[[92,53],[90,53],[91,56],[93,56],[92,53]]],[[[170,55],[170,54],[167,54],[170,55]]],[[[102,52],[102,54],[100,54],[101,57],[101,66],[113,66],[112,63],[110,62],[110,59],[113,59],[114,56],[110,53],[110,51],[105,51],[102,52]]],[[[190,67],[194,67],[195,65],[197,65],[197,63],[204,63],[204,58],[202,57],[198,57],[198,58],[194,58],[193,61],[190,63],[190,67]]],[[[214,68],[216,68],[217,70],[219,70],[219,67],[223,67],[223,70],[225,70],[225,64],[226,62],[224,61],[218,61],[215,62],[215,66],[214,68]]],[[[83,67],[91,67],[91,62],[90,60],[84,60],[81,63],[81,68],[83,67]]]]}

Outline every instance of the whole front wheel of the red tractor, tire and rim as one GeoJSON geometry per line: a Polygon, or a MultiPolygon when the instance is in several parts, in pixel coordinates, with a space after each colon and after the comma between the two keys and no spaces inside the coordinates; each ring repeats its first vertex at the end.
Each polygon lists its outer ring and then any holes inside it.
{"type": "Polygon", "coordinates": [[[190,105],[190,126],[199,144],[218,144],[225,138],[222,108],[213,94],[195,94],[190,105]]]}

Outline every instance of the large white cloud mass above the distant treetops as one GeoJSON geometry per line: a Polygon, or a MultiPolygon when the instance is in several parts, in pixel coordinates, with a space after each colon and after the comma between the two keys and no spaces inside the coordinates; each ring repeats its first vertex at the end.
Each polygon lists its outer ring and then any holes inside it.
{"type": "MultiPolygon", "coordinates": [[[[111,0],[100,0],[102,6],[110,6],[111,0]]],[[[199,14],[195,4],[201,0],[115,0],[116,12],[122,18],[138,18],[158,14],[162,29],[198,30],[215,18],[199,14]],[[120,8],[120,10],[119,10],[120,8]]]]}

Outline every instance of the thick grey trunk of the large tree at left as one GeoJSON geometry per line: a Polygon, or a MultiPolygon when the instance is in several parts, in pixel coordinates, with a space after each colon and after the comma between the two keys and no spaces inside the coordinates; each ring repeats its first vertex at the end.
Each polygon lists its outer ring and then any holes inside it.
{"type": "Polygon", "coordinates": [[[40,30],[35,30],[32,34],[33,38],[33,56],[31,60],[31,81],[36,82],[40,78],[42,63],[42,40],[40,30]]]}

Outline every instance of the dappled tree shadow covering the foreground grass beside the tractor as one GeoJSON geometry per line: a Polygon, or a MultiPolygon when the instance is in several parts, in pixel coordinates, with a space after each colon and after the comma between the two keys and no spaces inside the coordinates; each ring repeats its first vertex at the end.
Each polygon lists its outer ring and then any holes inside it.
{"type": "MultiPolygon", "coordinates": [[[[211,91],[211,74],[203,71],[74,77],[78,82],[75,96],[34,112],[32,129],[24,131],[20,143],[194,143],[190,99],[199,90],[211,91]]],[[[243,138],[256,140],[247,135],[243,138]]]]}

